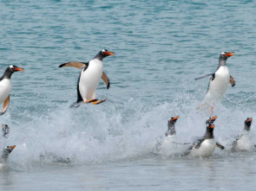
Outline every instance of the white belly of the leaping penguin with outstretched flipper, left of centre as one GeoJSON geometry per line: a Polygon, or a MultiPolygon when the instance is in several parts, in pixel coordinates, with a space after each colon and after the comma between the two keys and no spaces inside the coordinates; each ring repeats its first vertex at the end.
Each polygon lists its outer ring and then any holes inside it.
{"type": "Polygon", "coordinates": [[[102,79],[103,65],[101,60],[90,60],[89,67],[81,71],[79,92],[83,101],[95,99],[96,88],[102,79]]]}

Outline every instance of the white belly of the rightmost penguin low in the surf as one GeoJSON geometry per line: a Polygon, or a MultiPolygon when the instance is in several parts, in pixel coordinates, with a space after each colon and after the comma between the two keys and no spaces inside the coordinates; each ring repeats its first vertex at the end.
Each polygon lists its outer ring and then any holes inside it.
{"type": "Polygon", "coordinates": [[[253,151],[253,149],[253,138],[248,134],[242,135],[237,143],[233,145],[234,151],[253,151]]]}

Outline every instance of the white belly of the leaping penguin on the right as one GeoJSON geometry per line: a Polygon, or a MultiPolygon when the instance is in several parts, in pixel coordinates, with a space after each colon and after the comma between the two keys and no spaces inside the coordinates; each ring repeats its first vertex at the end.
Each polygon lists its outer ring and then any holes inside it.
{"type": "Polygon", "coordinates": [[[230,74],[228,68],[226,66],[220,67],[215,73],[214,80],[210,81],[208,92],[203,103],[208,105],[218,104],[226,92],[229,80],[230,74]]]}

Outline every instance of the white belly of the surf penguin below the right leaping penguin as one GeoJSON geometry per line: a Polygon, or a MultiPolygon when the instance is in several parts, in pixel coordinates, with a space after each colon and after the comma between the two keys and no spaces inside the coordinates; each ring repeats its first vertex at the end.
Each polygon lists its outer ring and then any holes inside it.
{"type": "Polygon", "coordinates": [[[199,149],[195,149],[195,147],[189,153],[189,156],[193,157],[208,157],[213,154],[213,151],[216,147],[216,141],[214,139],[207,139],[201,143],[199,149]]]}

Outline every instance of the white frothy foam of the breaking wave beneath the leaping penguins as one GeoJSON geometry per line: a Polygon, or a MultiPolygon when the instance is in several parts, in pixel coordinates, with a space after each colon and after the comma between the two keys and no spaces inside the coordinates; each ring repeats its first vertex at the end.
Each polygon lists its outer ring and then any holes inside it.
{"type": "MultiPolygon", "coordinates": [[[[134,99],[123,105],[106,102],[81,105],[77,109],[65,104],[42,115],[36,114],[30,121],[22,120],[21,124],[7,114],[4,120],[10,125],[10,137],[3,145],[16,144],[10,161],[25,167],[38,162],[88,164],[144,157],[154,153],[157,138],[164,137],[167,131],[168,118],[176,115],[180,116],[175,124],[179,142],[192,143],[195,137],[203,136],[208,116],[195,110],[198,103],[187,96],[161,105],[143,105],[134,99]]],[[[242,132],[244,120],[256,113],[247,108],[220,105],[214,114],[219,117],[214,123],[214,136],[229,149],[234,137],[242,132]]],[[[24,111],[20,115],[28,118],[33,112],[24,111]]],[[[252,124],[252,133],[254,129],[252,124]]],[[[181,154],[180,146],[169,145],[165,156],[181,154]]]]}

